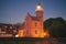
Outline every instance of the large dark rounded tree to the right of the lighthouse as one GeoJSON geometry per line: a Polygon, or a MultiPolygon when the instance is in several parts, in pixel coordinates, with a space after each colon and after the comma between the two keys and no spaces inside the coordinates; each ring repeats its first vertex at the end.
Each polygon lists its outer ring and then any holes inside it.
{"type": "Polygon", "coordinates": [[[44,22],[45,30],[50,30],[50,34],[54,37],[66,36],[66,21],[62,18],[51,18],[44,22]],[[50,29],[48,29],[50,28],[50,29]]]}

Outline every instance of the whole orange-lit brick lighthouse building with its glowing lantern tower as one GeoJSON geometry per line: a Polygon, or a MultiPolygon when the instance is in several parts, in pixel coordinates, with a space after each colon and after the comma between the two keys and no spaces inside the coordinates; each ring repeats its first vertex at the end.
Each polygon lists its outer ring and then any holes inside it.
{"type": "Polygon", "coordinates": [[[29,12],[28,15],[19,29],[18,36],[19,37],[44,37],[43,30],[43,7],[41,3],[36,6],[35,16],[32,16],[29,12]]]}

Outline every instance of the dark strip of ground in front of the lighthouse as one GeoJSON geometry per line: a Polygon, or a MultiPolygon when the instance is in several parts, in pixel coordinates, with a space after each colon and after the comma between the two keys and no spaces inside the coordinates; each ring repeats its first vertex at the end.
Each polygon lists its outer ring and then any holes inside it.
{"type": "Polygon", "coordinates": [[[57,40],[57,38],[0,38],[0,44],[66,44],[66,40],[57,40]]]}

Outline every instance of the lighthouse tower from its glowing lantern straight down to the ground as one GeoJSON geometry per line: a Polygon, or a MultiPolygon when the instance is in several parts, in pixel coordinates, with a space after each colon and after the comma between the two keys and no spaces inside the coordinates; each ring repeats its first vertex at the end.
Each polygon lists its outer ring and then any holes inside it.
{"type": "Polygon", "coordinates": [[[38,37],[44,37],[44,26],[43,26],[43,14],[44,14],[44,9],[42,7],[41,3],[38,3],[36,6],[36,9],[35,9],[35,14],[36,14],[36,18],[40,20],[38,21],[38,28],[37,28],[37,31],[38,31],[38,37]]]}

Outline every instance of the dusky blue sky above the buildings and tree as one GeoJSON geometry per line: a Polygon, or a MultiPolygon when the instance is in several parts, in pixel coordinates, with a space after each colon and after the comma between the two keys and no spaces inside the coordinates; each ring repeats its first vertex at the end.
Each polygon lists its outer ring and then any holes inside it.
{"type": "Polygon", "coordinates": [[[57,16],[66,20],[66,0],[0,0],[0,23],[22,23],[28,12],[35,15],[38,2],[44,8],[44,20],[57,16]]]}

